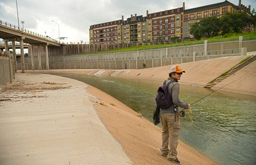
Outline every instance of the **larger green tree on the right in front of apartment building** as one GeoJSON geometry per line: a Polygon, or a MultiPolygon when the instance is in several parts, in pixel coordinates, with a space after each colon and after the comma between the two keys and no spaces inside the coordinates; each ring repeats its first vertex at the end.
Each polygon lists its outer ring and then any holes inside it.
{"type": "Polygon", "coordinates": [[[226,12],[220,19],[222,35],[226,33],[241,33],[242,29],[250,23],[251,18],[245,11],[226,12]]]}

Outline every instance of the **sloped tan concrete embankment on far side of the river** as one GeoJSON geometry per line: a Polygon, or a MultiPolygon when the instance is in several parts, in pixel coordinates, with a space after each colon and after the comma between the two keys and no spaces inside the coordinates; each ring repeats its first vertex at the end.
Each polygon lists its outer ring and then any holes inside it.
{"type": "MultiPolygon", "coordinates": [[[[250,55],[255,55],[252,53],[250,55]]],[[[207,83],[216,79],[221,74],[232,69],[239,62],[248,56],[230,56],[215,58],[211,60],[189,62],[184,64],[177,64],[182,67],[186,72],[182,75],[180,79],[181,84],[187,84],[197,87],[204,87],[207,83]]],[[[225,79],[221,83],[213,87],[213,89],[218,89],[225,86],[237,79],[237,82],[229,84],[222,88],[221,90],[238,92],[241,94],[256,95],[256,88],[254,83],[256,82],[256,61],[252,62],[250,65],[244,67],[236,74],[225,79]]],[[[73,74],[88,74],[88,75],[110,75],[119,77],[131,77],[131,78],[143,78],[152,79],[157,81],[164,81],[168,78],[168,73],[170,73],[172,65],[162,66],[162,67],[152,67],[147,69],[138,70],[101,70],[101,69],[86,69],[86,70],[42,70],[43,73],[73,73],[73,74]]],[[[30,73],[36,73],[38,71],[31,71],[30,73]]]]}

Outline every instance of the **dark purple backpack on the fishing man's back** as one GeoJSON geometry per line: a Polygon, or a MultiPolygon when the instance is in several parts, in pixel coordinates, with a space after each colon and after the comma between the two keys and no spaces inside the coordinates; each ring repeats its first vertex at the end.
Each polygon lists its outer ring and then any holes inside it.
{"type": "Polygon", "coordinates": [[[159,108],[163,108],[163,109],[167,109],[169,107],[171,107],[172,103],[172,97],[170,95],[170,92],[168,91],[168,86],[170,85],[170,83],[175,82],[175,81],[170,81],[167,85],[166,85],[166,81],[164,81],[163,86],[160,86],[158,88],[158,94],[156,94],[156,105],[159,108]]]}

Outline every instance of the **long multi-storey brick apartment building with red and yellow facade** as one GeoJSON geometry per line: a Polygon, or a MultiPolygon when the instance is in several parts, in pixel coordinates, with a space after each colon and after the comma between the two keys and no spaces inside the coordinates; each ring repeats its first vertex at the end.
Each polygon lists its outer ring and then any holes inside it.
{"type": "MultiPolygon", "coordinates": [[[[183,40],[195,40],[189,33],[195,22],[199,22],[208,16],[220,17],[226,12],[250,11],[239,0],[238,6],[224,1],[212,5],[196,7],[185,10],[185,2],[182,7],[176,9],[154,12],[146,16],[131,15],[127,20],[114,20],[90,26],[90,44],[130,44],[143,43],[144,41],[168,41],[172,37],[180,37],[183,40]]],[[[243,32],[251,32],[247,26],[243,32]]]]}

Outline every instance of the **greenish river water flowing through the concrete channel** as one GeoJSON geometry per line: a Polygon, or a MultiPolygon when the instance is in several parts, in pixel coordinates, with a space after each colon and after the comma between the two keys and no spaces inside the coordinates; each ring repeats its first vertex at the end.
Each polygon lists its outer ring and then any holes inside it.
{"type": "MultiPolygon", "coordinates": [[[[154,99],[162,81],[99,75],[55,75],[90,84],[134,111],[141,111],[143,117],[153,121],[154,99]]],[[[180,99],[189,104],[212,92],[209,88],[180,84],[180,99]]],[[[192,116],[193,123],[187,112],[186,118],[181,117],[179,138],[218,164],[256,164],[255,109],[256,96],[218,91],[192,105],[195,114],[192,116]]],[[[161,127],[160,124],[158,126],[161,127]]]]}

